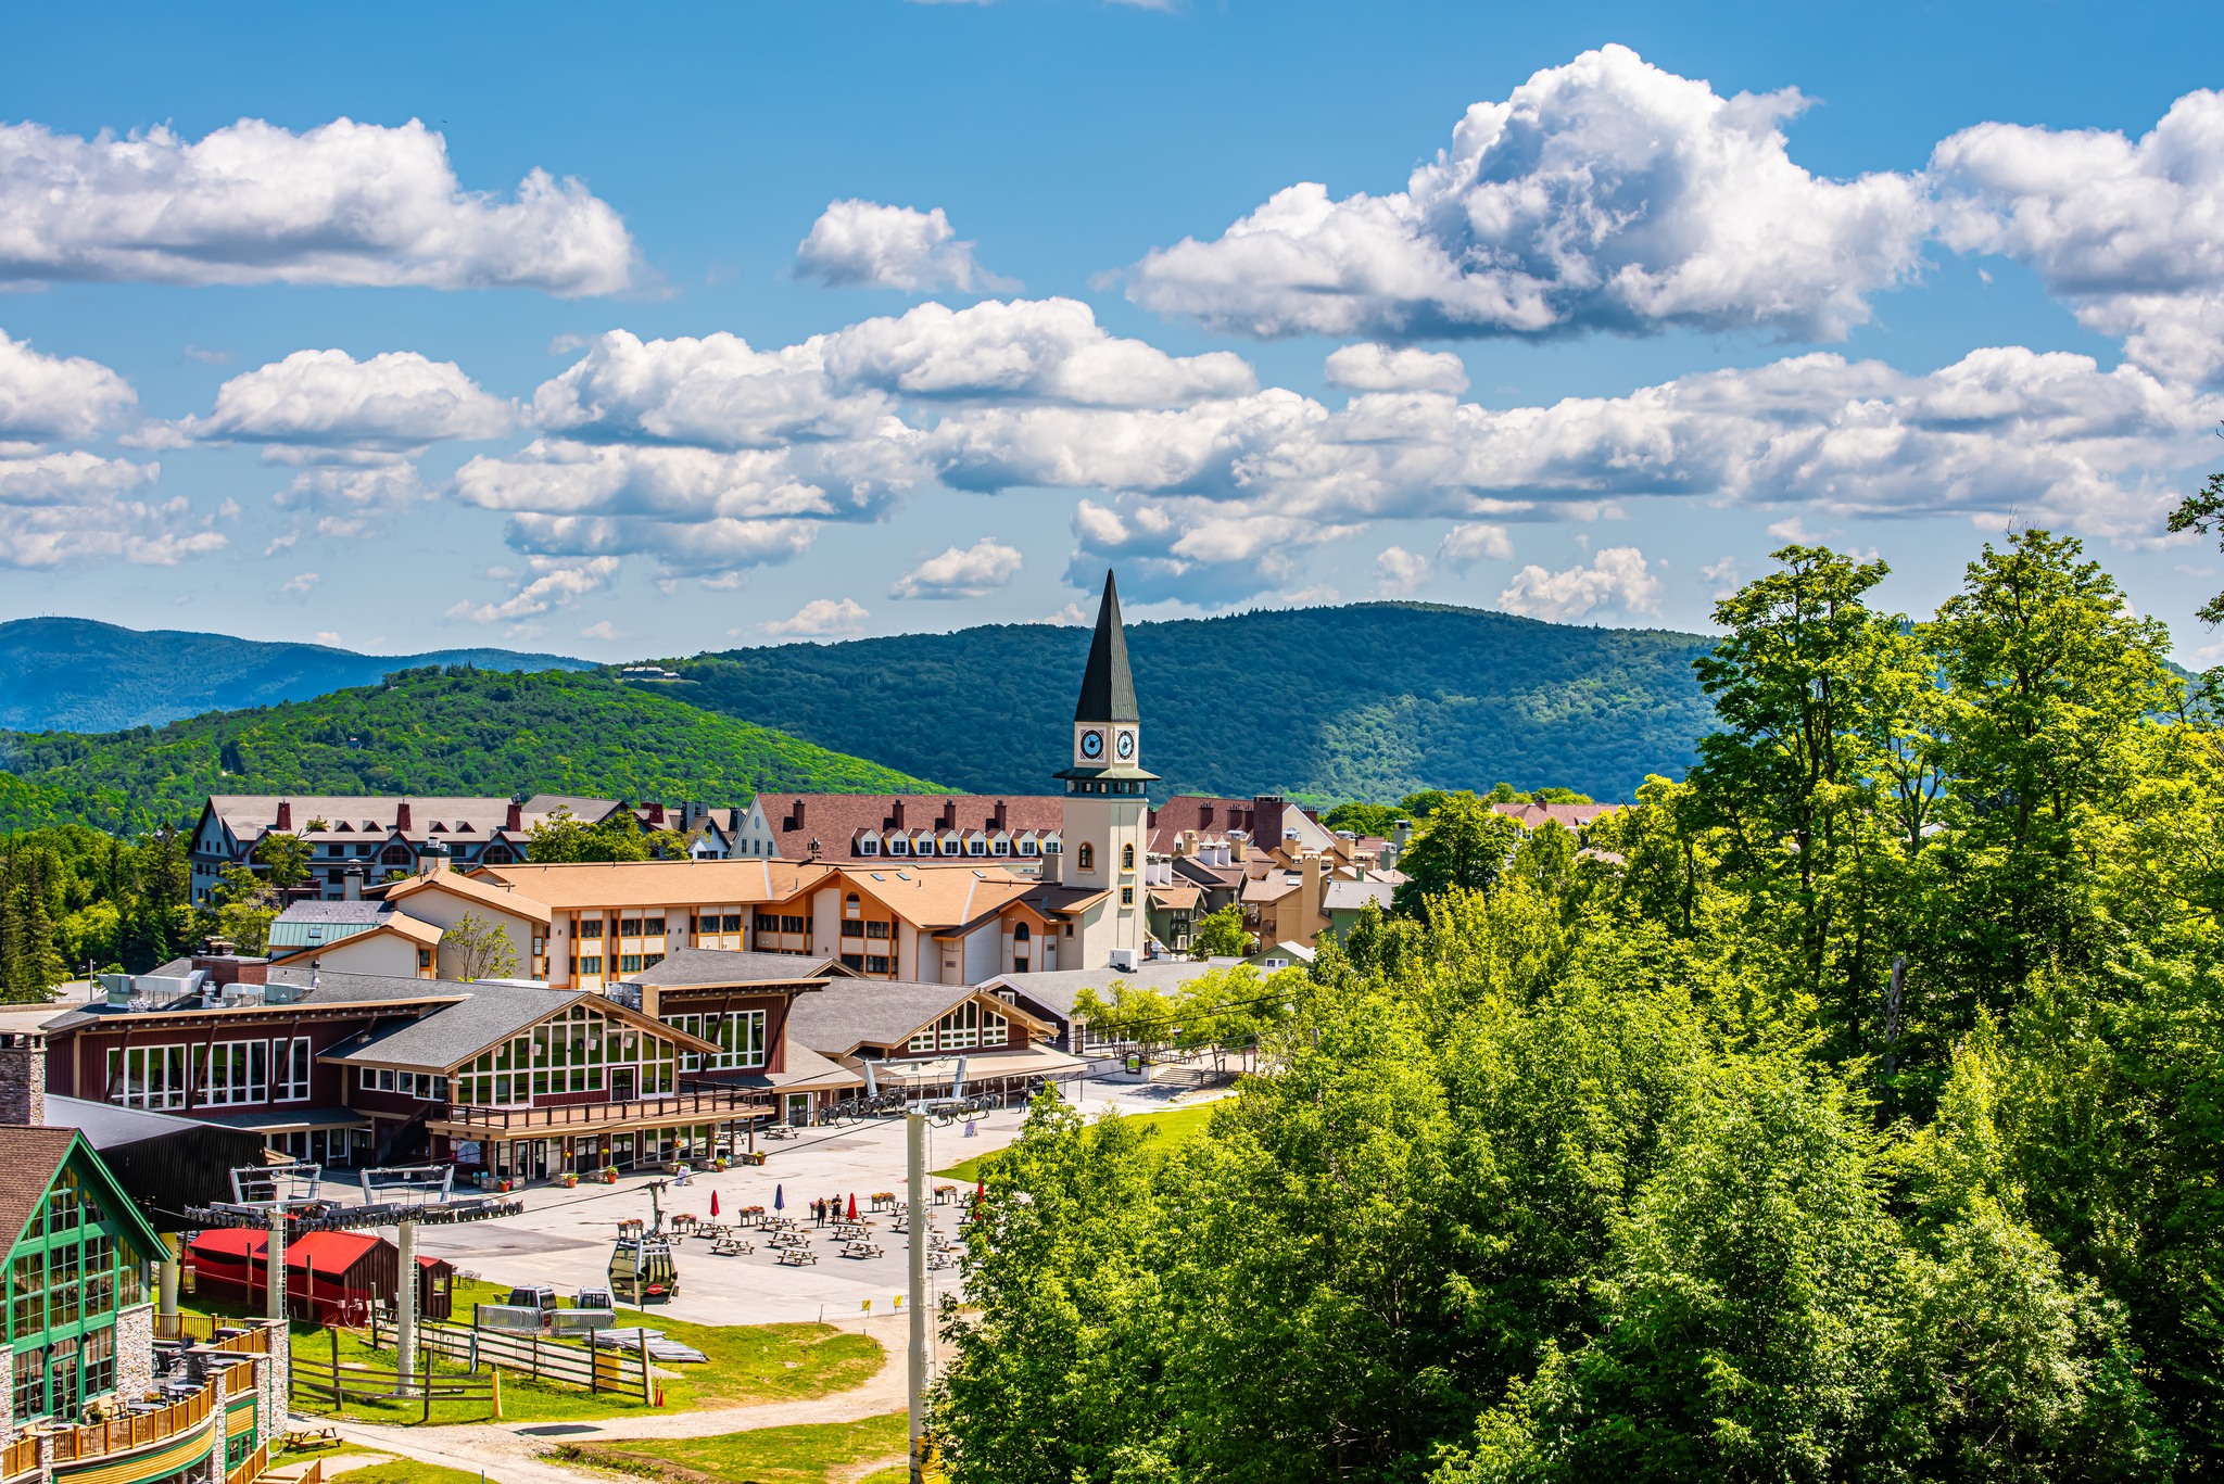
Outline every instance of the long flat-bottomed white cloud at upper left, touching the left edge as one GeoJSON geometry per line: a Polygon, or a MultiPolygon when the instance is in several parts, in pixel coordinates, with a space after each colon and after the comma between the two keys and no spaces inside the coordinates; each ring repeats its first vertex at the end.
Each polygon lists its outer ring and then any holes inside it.
{"type": "Polygon", "coordinates": [[[616,294],[625,222],[578,180],[465,191],[418,120],[289,133],[242,118],[198,142],[0,125],[0,280],[322,283],[616,294]]]}

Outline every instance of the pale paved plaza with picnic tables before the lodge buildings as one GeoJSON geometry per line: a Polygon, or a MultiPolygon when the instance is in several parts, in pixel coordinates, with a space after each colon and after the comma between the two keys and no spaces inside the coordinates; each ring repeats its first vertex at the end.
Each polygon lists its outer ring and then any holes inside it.
{"type": "MultiPolygon", "coordinates": [[[[1081,1110],[1096,1115],[1105,1106],[1119,1106],[1121,1112],[1152,1112],[1194,1106],[1210,1097],[1188,1092],[1174,1104],[1176,1092],[1168,1086],[1092,1079],[1081,1088],[1081,1110]]],[[[1023,1119],[1023,1108],[981,1115],[974,1119],[972,1137],[965,1137],[963,1124],[930,1126],[927,1170],[950,1168],[1007,1146],[1019,1137],[1023,1119]]],[[[763,1168],[696,1173],[685,1188],[667,1184],[663,1193],[667,1221],[681,1213],[709,1219],[714,1190],[721,1221],[732,1221],[743,1206],[763,1206],[770,1213],[778,1193],[785,1204],[783,1215],[801,1221],[818,1262],[801,1268],[781,1266],[763,1233],[743,1233],[756,1250],[741,1257],[712,1255],[707,1239],[681,1239],[676,1244],[681,1297],[669,1308],[672,1317],[694,1324],[774,1324],[890,1313],[907,1284],[907,1237],[892,1230],[890,1217],[872,1217],[867,1206],[876,1190],[894,1190],[903,1199],[903,1119],[805,1128],[794,1139],[758,1141],[758,1148],[767,1150],[763,1168]],[[834,1239],[832,1228],[812,1228],[812,1199],[836,1195],[843,1201],[856,1195],[858,1215],[872,1219],[870,1241],[883,1248],[881,1257],[843,1257],[845,1244],[834,1239]]],[[[549,1284],[563,1295],[598,1288],[605,1282],[618,1221],[649,1217],[654,1179],[661,1177],[625,1175],[616,1186],[580,1184],[572,1190],[554,1184],[534,1186],[525,1190],[525,1215],[427,1226],[418,1235],[418,1250],[445,1257],[458,1270],[496,1284],[549,1284]]],[[[932,1188],[952,1181],[930,1175],[927,1184],[932,1188]]],[[[934,1230],[956,1239],[963,1206],[952,1201],[930,1210],[934,1230]]],[[[956,1264],[927,1273],[927,1284],[932,1304],[945,1293],[963,1293],[956,1264]]]]}

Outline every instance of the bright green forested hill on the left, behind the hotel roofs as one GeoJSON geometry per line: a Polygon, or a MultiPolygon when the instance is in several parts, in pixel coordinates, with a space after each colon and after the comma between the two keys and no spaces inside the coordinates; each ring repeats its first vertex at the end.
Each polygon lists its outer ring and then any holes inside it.
{"type": "Polygon", "coordinates": [[[932,790],[600,674],[409,670],[387,685],[127,732],[0,732],[0,828],[142,830],[207,794],[532,794],[747,803],[932,790]],[[13,774],[13,776],[11,776],[13,774]]]}

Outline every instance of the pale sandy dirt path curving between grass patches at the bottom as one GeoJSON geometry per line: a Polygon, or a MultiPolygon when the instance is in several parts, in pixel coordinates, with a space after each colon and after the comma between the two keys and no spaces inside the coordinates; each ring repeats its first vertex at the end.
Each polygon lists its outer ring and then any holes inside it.
{"type": "MultiPolygon", "coordinates": [[[[881,1368],[863,1386],[834,1391],[803,1402],[756,1402],[687,1413],[649,1413],[578,1422],[474,1422],[434,1428],[380,1426],[347,1422],[334,1426],[347,1442],[445,1464],[465,1473],[485,1471],[498,1484],[580,1484],[580,1466],[545,1462],[540,1455],[565,1442],[618,1442],[627,1437],[723,1437],[756,1428],[785,1428],[807,1422],[858,1422],[901,1413],[905,1397],[903,1344],[907,1319],[870,1319],[858,1326],[881,1344],[881,1368]]],[[[901,1462],[901,1460],[898,1460],[901,1462]]]]}

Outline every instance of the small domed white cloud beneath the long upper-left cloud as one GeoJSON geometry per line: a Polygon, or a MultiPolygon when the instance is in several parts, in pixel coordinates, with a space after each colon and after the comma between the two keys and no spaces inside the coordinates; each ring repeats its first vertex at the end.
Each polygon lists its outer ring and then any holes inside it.
{"type": "Polygon", "coordinates": [[[389,463],[451,438],[500,438],[514,425],[516,409],[451,360],[298,349],[234,376],[209,416],[167,432],[193,443],[260,443],[282,463],[389,463]]]}

